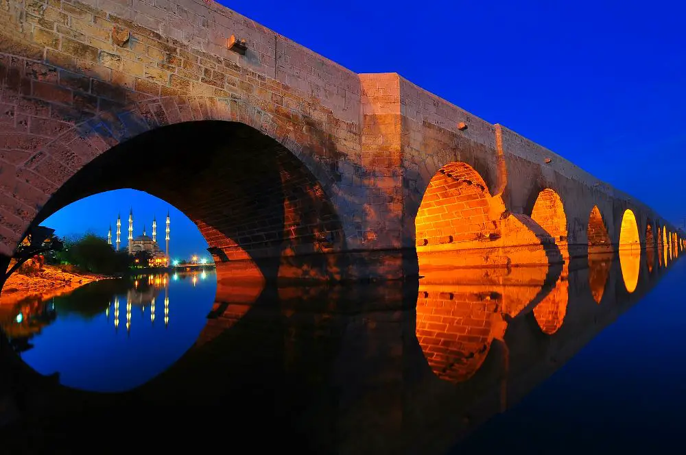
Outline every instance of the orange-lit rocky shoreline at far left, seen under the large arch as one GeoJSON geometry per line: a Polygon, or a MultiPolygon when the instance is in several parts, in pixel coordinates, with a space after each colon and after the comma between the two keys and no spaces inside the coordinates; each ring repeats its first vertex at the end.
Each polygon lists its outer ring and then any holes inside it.
{"type": "Polygon", "coordinates": [[[12,273],[0,291],[0,305],[11,305],[29,297],[49,299],[70,293],[81,286],[99,280],[119,278],[96,273],[74,273],[62,271],[54,265],[44,265],[43,269],[31,275],[12,273]]]}

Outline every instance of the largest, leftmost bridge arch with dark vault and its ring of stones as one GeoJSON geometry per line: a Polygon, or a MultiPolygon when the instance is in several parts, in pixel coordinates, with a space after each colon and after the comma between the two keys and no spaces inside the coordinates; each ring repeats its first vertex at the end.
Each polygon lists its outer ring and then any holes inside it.
{"type": "Polygon", "coordinates": [[[75,125],[35,157],[26,166],[51,197],[33,223],[82,197],[135,188],[196,222],[215,262],[248,254],[265,278],[344,278],[344,265],[318,254],[346,249],[335,179],[268,115],[165,97],[75,125]],[[127,165],[141,158],[148,164],[127,165]]]}

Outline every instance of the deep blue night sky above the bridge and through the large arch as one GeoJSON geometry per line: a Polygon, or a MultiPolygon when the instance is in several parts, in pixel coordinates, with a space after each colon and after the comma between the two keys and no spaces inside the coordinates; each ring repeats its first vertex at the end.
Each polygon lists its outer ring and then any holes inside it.
{"type": "MultiPolygon", "coordinates": [[[[399,73],[683,224],[686,3],[220,3],[357,73],[399,73]]],[[[44,224],[60,235],[87,228],[106,235],[129,206],[136,234],[169,208],[127,190],[77,202],[44,224]]],[[[172,256],[203,253],[195,225],[170,210],[172,256]]]]}

